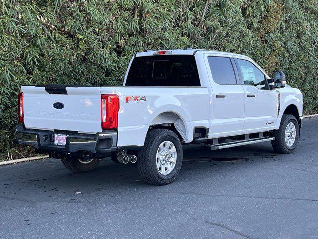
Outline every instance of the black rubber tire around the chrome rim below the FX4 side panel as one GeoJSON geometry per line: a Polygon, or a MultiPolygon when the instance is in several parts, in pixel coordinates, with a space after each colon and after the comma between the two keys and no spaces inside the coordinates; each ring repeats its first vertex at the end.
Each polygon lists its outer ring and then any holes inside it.
{"type": "Polygon", "coordinates": [[[178,135],[168,129],[154,129],[148,132],[144,147],[138,151],[137,167],[146,182],[153,185],[166,185],[171,183],[179,174],[182,159],[182,144],[178,135]],[[168,175],[159,173],[156,166],[156,153],[159,145],[164,141],[172,142],[177,152],[174,169],[168,175]]]}

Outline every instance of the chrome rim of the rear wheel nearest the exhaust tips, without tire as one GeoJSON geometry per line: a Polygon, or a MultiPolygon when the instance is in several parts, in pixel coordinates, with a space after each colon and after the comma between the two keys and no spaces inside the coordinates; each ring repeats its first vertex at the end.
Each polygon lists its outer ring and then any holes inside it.
{"type": "Polygon", "coordinates": [[[177,161],[177,150],[170,141],[164,141],[156,153],[156,166],[159,173],[168,175],[172,172],[177,161]]]}

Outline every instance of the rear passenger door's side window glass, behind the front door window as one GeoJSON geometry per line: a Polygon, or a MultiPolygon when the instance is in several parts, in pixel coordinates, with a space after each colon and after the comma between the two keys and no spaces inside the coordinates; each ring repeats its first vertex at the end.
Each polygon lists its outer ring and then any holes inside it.
{"type": "Polygon", "coordinates": [[[232,63],[228,57],[208,57],[213,81],[218,84],[237,84],[232,63]]]}

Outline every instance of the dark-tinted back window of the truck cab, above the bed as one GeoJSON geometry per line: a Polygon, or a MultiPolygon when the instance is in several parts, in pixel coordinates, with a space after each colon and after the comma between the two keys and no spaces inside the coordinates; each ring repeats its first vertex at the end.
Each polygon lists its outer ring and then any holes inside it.
{"type": "Polygon", "coordinates": [[[126,86],[201,86],[192,55],[159,55],[134,58],[126,86]]]}

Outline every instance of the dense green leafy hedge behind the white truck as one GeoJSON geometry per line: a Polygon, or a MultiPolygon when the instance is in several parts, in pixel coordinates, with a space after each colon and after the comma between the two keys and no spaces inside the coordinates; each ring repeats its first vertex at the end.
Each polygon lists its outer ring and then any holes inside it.
{"type": "Polygon", "coordinates": [[[214,49],[285,71],[318,112],[317,0],[2,0],[0,150],[23,84],[121,84],[147,48],[214,49]]]}

